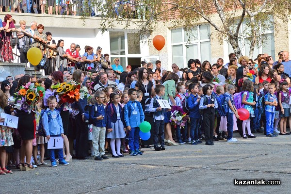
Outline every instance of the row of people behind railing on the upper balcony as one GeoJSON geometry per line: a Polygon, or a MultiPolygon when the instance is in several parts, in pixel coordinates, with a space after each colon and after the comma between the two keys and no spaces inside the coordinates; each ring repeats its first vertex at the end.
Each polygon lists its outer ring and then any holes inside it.
{"type": "MultiPolygon", "coordinates": [[[[102,3],[105,4],[106,1],[102,3]]],[[[88,13],[89,16],[98,16],[97,6],[97,2],[92,0],[0,0],[0,12],[48,15],[82,16],[88,13]]],[[[135,0],[116,0],[112,12],[115,16],[136,18],[135,0]]]]}

